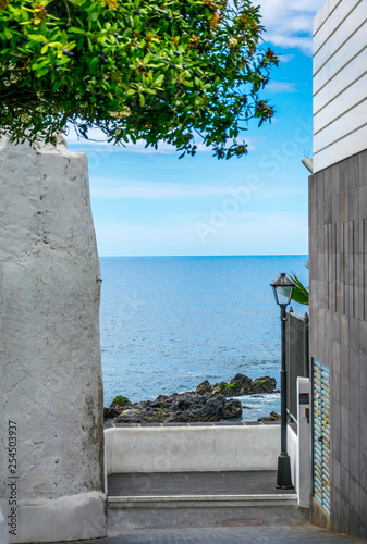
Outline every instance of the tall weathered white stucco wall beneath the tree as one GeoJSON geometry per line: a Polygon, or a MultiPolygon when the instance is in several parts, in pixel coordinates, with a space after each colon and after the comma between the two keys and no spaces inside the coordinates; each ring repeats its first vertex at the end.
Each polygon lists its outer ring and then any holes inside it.
{"type": "Polygon", "coordinates": [[[100,284],[87,159],[2,137],[0,195],[0,542],[102,536],[100,284]],[[14,478],[15,535],[7,519],[14,478]]]}

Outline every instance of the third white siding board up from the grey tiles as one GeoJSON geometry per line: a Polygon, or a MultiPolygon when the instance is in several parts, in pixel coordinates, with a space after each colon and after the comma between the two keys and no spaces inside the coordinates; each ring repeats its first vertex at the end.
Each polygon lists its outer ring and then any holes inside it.
{"type": "MultiPolygon", "coordinates": [[[[358,79],[354,85],[346,89],[335,100],[328,103],[326,108],[314,116],[314,134],[329,125],[334,119],[342,115],[348,109],[367,99],[367,75],[358,79]]],[[[354,115],[351,111],[345,116],[354,115]]],[[[363,122],[363,120],[360,120],[363,122]]],[[[367,118],[366,120],[367,121],[367,118]]]]}

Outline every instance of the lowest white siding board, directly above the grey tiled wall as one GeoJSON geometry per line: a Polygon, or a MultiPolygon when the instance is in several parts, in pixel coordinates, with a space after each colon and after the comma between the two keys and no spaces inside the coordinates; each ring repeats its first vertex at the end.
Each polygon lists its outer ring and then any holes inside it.
{"type": "Polygon", "coordinates": [[[367,149],[367,126],[314,154],[314,173],[367,149]]]}

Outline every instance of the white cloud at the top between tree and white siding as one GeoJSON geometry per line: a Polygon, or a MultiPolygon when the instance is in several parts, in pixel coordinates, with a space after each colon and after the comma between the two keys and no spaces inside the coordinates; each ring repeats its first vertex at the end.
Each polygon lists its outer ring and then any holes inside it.
{"type": "Polygon", "coordinates": [[[260,0],[265,39],[311,54],[313,20],[325,0],[260,0]]]}

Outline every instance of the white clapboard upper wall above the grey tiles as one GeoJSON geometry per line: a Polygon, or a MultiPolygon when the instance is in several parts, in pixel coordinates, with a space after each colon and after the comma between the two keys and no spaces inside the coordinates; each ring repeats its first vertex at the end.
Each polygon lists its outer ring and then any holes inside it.
{"type": "Polygon", "coordinates": [[[314,20],[314,172],[367,149],[367,0],[314,20]]]}

